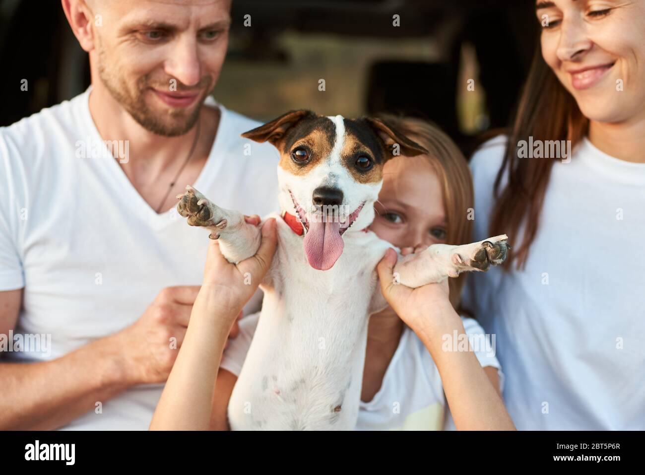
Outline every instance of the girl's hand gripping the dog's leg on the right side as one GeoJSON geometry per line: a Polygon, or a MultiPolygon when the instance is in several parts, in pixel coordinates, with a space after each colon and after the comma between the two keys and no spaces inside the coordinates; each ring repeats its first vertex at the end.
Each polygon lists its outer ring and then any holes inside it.
{"type": "MultiPolygon", "coordinates": [[[[404,250],[404,254],[410,254],[410,251],[404,250]]],[[[457,321],[461,323],[448,298],[448,279],[417,288],[406,287],[394,279],[396,263],[397,253],[389,248],[379,262],[377,272],[383,297],[408,327],[417,335],[424,334],[434,340],[437,336],[441,338],[457,321]]]]}

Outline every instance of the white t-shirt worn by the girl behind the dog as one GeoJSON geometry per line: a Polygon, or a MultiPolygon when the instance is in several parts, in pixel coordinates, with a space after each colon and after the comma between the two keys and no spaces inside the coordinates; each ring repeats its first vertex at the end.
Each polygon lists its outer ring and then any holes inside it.
{"type": "MultiPolygon", "coordinates": [[[[258,312],[242,318],[237,338],[224,350],[220,367],[235,376],[239,376],[242,369],[259,315],[258,312]]],[[[471,318],[462,318],[462,321],[479,363],[482,367],[497,368],[500,384],[503,384],[504,375],[495,358],[495,345],[486,338],[477,321],[471,318]]],[[[445,403],[439,370],[430,352],[409,327],[404,327],[381,389],[372,401],[361,401],[355,429],[439,430],[444,425],[445,403]]],[[[447,425],[452,428],[450,419],[447,425]]]]}

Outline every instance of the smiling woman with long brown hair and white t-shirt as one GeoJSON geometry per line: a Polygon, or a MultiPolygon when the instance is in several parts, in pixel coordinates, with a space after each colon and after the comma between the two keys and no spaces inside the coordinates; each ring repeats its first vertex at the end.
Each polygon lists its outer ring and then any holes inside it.
{"type": "Polygon", "coordinates": [[[471,161],[475,239],[513,253],[464,305],[497,335],[518,429],[645,429],[645,0],[536,12],[513,126],[471,161]]]}

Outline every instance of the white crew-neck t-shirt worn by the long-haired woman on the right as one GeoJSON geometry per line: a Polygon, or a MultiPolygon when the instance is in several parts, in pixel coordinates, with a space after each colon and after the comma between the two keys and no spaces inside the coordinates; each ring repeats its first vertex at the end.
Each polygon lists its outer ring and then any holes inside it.
{"type": "MultiPolygon", "coordinates": [[[[475,240],[488,236],[505,143],[471,161],[475,240]]],[[[645,164],[584,139],[553,165],[540,219],[526,268],[473,273],[462,300],[497,335],[511,418],[518,429],[643,430],[645,164]]]]}

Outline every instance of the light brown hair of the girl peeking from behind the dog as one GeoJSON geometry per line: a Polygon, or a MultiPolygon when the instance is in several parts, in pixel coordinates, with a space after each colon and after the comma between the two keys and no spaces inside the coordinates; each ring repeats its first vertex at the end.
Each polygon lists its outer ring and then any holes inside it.
{"type": "MultiPolygon", "coordinates": [[[[442,130],[428,121],[414,117],[399,117],[379,114],[379,118],[392,125],[402,135],[417,142],[428,150],[425,155],[435,169],[446,210],[446,243],[468,244],[472,240],[474,193],[473,181],[468,162],[457,145],[442,130]]],[[[448,279],[450,303],[459,309],[461,290],[466,274],[448,279]]]]}

